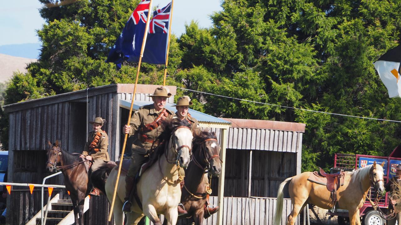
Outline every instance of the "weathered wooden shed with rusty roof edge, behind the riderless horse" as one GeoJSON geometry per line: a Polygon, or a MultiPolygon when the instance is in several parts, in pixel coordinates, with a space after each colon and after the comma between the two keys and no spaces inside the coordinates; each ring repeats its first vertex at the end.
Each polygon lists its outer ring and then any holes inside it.
{"type": "MultiPolygon", "coordinates": [[[[224,210],[219,212],[224,216],[218,224],[270,225],[280,183],[301,173],[305,124],[222,119],[231,122],[231,127],[225,146],[224,210]]],[[[219,137],[220,131],[212,130],[219,137]]],[[[217,182],[212,181],[212,189],[216,188],[217,182]]],[[[286,199],[283,224],[290,211],[291,202],[286,199]]]]}

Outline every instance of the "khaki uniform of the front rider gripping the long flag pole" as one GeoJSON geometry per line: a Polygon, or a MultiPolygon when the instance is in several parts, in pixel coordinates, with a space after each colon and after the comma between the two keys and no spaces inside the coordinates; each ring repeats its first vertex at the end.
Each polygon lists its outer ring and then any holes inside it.
{"type": "MultiPolygon", "coordinates": [[[[134,143],[132,143],[132,161],[130,169],[128,169],[127,177],[134,177],[140,166],[147,161],[146,153],[150,151],[152,143],[158,139],[163,132],[162,126],[158,126],[151,131],[146,132],[145,125],[148,125],[156,120],[159,114],[163,111],[156,111],[154,104],[142,106],[138,111],[134,112],[130,120],[130,136],[136,135],[134,143]]],[[[162,120],[172,118],[173,112],[166,109],[166,117],[162,116],[162,120]]],[[[156,143],[154,147],[156,147],[156,143]]]]}

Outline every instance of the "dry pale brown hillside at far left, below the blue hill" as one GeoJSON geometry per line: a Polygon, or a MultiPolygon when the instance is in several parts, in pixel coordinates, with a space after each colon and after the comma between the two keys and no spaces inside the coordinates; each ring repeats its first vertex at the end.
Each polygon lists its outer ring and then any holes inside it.
{"type": "Polygon", "coordinates": [[[0,82],[10,79],[14,71],[19,70],[20,72],[26,72],[26,64],[36,60],[37,59],[0,54],[0,82]]]}

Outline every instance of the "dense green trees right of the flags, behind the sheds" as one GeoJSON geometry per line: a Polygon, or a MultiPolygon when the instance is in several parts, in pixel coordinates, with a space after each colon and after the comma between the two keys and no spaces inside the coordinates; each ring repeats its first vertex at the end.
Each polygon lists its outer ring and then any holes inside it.
{"type": "MultiPolygon", "coordinates": [[[[186,27],[180,75],[204,92],[399,121],[400,99],[388,98],[373,62],[398,44],[400,4],[225,0],[211,28],[186,27]]],[[[388,155],[401,138],[399,123],[192,96],[218,116],[306,123],[303,170],[332,167],[336,152],[388,155]]]]}

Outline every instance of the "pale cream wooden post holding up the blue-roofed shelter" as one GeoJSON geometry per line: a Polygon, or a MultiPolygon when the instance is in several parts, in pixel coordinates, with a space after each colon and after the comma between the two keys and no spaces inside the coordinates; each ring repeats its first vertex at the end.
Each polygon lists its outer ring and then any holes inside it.
{"type": "Polygon", "coordinates": [[[220,158],[223,161],[221,165],[221,173],[219,175],[219,191],[218,191],[218,197],[217,197],[217,205],[220,207],[219,211],[217,212],[217,224],[223,224],[223,205],[224,205],[224,177],[225,177],[225,151],[226,151],[226,146],[227,146],[227,135],[228,135],[228,128],[222,128],[221,129],[221,135],[220,135],[220,158]]]}

